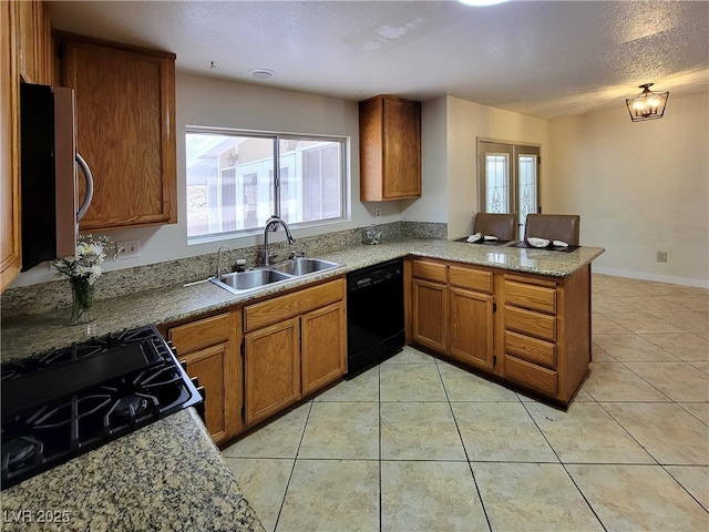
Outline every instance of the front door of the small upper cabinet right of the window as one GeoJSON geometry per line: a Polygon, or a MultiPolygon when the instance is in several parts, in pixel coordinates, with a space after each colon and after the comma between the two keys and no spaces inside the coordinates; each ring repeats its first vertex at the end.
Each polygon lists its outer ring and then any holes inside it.
{"type": "Polygon", "coordinates": [[[421,104],[384,100],[384,198],[421,196],[421,104]]]}

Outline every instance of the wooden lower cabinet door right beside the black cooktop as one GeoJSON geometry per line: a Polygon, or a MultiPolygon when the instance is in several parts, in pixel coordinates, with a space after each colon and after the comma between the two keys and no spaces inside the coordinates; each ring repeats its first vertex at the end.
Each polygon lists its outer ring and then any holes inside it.
{"type": "Polygon", "coordinates": [[[199,385],[204,386],[206,395],[205,424],[215,443],[219,443],[230,436],[224,409],[228,387],[224,367],[227,365],[228,357],[228,344],[207,347],[186,357],[181,357],[187,362],[187,375],[197,377],[199,385]]]}

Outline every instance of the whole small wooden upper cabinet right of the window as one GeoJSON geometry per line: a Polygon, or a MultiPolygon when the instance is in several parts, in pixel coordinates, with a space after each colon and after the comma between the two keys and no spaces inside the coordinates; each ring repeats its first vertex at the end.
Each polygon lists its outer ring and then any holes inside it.
{"type": "Polygon", "coordinates": [[[421,103],[374,96],[359,103],[360,200],[421,196],[421,103]]]}

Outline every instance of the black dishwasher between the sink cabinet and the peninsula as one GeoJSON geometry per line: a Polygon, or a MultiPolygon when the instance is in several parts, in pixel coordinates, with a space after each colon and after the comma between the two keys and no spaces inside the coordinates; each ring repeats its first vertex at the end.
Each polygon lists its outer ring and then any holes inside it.
{"type": "Polygon", "coordinates": [[[403,262],[390,260],[347,275],[347,367],[350,377],[405,344],[403,262]]]}

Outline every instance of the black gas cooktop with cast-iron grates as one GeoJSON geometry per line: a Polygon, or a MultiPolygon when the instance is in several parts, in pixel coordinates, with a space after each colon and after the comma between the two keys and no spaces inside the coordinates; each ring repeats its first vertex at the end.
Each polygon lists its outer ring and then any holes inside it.
{"type": "Polygon", "coordinates": [[[2,489],[183,408],[203,390],[154,326],[2,364],[2,489]]]}

